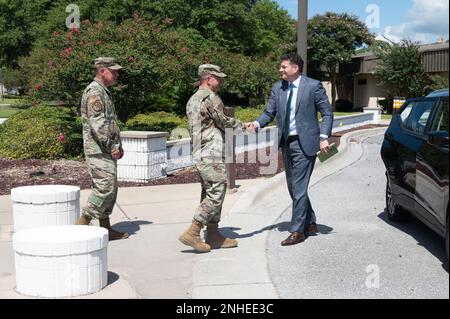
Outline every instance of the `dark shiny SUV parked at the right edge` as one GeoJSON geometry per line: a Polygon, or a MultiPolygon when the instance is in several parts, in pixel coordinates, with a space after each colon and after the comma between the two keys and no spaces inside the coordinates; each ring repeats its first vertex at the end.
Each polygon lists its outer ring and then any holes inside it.
{"type": "Polygon", "coordinates": [[[407,100],[392,116],[381,146],[389,219],[411,213],[445,238],[448,220],[448,90],[407,100]]]}

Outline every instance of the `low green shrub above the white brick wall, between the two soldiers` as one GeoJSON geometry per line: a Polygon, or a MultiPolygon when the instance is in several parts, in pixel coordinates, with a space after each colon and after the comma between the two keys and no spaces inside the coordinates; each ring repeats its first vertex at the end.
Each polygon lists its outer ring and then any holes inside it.
{"type": "Polygon", "coordinates": [[[128,130],[168,133],[177,127],[188,127],[187,118],[181,118],[173,113],[167,112],[138,114],[130,118],[125,125],[128,130]]]}

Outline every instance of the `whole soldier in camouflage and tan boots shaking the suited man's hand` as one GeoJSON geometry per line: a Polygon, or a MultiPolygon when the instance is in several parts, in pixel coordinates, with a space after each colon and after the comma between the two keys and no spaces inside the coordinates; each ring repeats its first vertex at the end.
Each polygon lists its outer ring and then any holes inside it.
{"type": "Polygon", "coordinates": [[[186,114],[192,139],[192,156],[202,185],[201,203],[192,224],[179,240],[198,252],[211,248],[236,247],[237,241],[222,236],[218,223],[227,188],[225,166],[225,129],[245,130],[246,124],[228,117],[217,95],[226,77],[217,65],[203,64],[198,69],[200,86],[189,99],[186,114]],[[206,243],[200,238],[200,230],[207,226],[206,243]]]}

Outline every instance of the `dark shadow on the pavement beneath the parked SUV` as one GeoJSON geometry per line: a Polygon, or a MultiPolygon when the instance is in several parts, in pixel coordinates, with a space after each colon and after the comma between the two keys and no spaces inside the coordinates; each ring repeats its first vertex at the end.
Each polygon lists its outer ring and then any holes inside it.
{"type": "Polygon", "coordinates": [[[424,247],[438,258],[442,263],[442,267],[448,272],[444,238],[413,216],[401,222],[393,222],[387,217],[386,209],[384,209],[383,212],[378,214],[378,217],[387,224],[413,237],[418,245],[424,247]]]}

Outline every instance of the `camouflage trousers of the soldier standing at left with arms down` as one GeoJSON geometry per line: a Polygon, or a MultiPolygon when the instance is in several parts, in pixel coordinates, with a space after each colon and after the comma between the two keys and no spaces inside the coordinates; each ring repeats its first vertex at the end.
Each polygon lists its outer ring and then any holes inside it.
{"type": "Polygon", "coordinates": [[[86,164],[92,178],[92,192],[82,214],[92,219],[107,218],[117,198],[117,161],[109,154],[96,154],[86,156],[86,164]]]}

